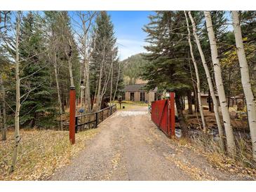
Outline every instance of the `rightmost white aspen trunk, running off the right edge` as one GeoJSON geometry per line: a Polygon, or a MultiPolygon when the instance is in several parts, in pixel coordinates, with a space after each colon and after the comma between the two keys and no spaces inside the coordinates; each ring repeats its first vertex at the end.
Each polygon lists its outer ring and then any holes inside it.
{"type": "Polygon", "coordinates": [[[245,50],[243,48],[243,38],[241,32],[241,26],[237,11],[232,11],[234,34],[236,39],[237,55],[241,70],[241,80],[243,84],[243,92],[245,94],[246,107],[248,113],[248,122],[250,127],[250,137],[252,140],[252,156],[256,160],[256,108],[255,98],[252,93],[252,85],[250,84],[250,76],[248,63],[245,56],[245,50]]]}

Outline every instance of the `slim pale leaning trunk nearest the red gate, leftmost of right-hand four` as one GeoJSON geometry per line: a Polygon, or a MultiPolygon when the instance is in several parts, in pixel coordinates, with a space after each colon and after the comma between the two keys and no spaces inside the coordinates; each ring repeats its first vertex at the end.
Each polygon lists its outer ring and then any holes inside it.
{"type": "MultiPolygon", "coordinates": [[[[197,64],[196,64],[196,60],[194,58],[194,53],[193,53],[193,46],[191,44],[191,38],[190,38],[190,29],[189,29],[189,21],[187,20],[187,13],[186,11],[184,11],[184,15],[186,18],[186,22],[187,22],[187,32],[188,32],[188,39],[189,39],[189,48],[190,48],[190,54],[191,54],[191,58],[194,64],[194,68],[196,71],[196,87],[197,87],[197,96],[198,96],[198,104],[199,104],[199,111],[200,111],[200,115],[201,115],[201,120],[202,120],[202,124],[203,124],[203,132],[207,132],[207,125],[206,125],[206,121],[204,118],[204,114],[203,114],[203,105],[201,102],[201,88],[200,88],[200,78],[199,78],[199,74],[198,74],[198,68],[197,68],[197,64]]],[[[194,94],[194,97],[196,99],[196,94],[194,94]]]]}

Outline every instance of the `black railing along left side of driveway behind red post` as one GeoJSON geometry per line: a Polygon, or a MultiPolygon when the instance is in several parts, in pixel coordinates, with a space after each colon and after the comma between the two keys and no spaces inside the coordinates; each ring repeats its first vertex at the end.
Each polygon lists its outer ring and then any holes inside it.
{"type": "Polygon", "coordinates": [[[114,112],[116,112],[116,104],[97,112],[76,116],[75,131],[79,132],[88,128],[97,128],[97,125],[114,114],[114,112]]]}

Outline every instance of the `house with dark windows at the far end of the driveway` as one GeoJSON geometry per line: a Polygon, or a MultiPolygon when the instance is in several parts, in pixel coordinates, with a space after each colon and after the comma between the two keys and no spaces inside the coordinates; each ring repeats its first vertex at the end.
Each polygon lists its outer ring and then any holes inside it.
{"type": "Polygon", "coordinates": [[[135,101],[135,102],[153,102],[159,100],[159,95],[156,93],[157,88],[154,90],[144,90],[146,83],[126,85],[124,88],[125,100],[126,101],[135,101]]]}

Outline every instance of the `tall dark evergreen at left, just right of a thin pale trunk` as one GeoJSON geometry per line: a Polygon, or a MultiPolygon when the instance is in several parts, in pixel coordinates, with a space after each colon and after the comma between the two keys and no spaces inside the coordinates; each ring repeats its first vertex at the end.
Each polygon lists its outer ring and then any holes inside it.
{"type": "Polygon", "coordinates": [[[55,101],[50,95],[50,67],[46,62],[46,43],[41,30],[40,16],[29,12],[22,18],[20,27],[21,102],[20,123],[35,125],[48,124],[49,116],[55,114],[55,101]],[[37,121],[40,118],[40,121],[37,121]],[[44,120],[44,121],[43,121],[44,120]]]}

